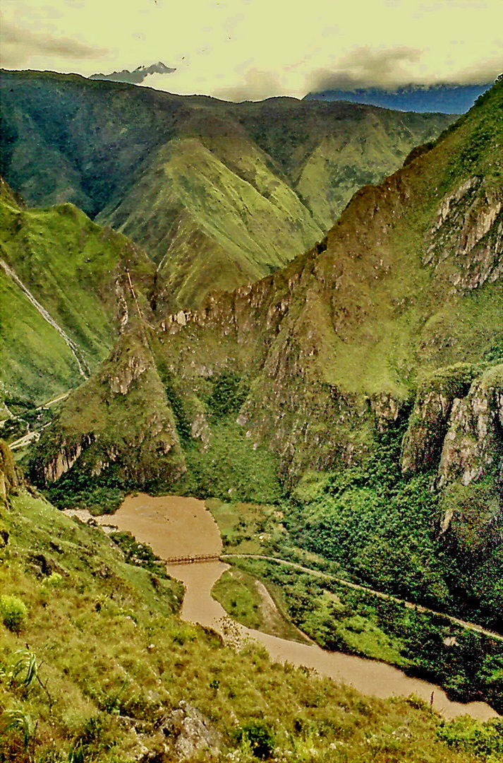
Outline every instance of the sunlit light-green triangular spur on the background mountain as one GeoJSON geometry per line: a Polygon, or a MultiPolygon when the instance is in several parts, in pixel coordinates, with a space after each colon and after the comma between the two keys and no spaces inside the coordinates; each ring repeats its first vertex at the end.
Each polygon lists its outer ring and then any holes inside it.
{"type": "Polygon", "coordinates": [[[176,295],[166,300],[171,309],[197,307],[210,288],[256,281],[322,238],[287,183],[237,137],[171,140],[98,220],[162,259],[162,292],[176,295]]]}

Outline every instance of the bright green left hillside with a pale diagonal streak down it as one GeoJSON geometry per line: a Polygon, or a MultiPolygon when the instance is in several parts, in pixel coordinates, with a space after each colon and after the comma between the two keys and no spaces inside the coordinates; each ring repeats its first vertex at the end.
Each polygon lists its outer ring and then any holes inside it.
{"type": "Polygon", "coordinates": [[[127,239],[73,207],[24,208],[0,187],[2,397],[41,402],[89,375],[134,310],[148,315],[154,266],[127,239]]]}

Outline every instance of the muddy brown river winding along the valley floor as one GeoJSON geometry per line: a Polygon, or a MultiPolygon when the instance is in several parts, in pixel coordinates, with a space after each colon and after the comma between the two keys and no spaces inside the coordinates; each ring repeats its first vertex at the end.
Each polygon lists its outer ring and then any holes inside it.
{"type": "MultiPolygon", "coordinates": [[[[203,501],[197,498],[138,494],[127,497],[113,517],[98,517],[98,521],[129,530],[139,542],[148,543],[162,559],[219,554],[222,550],[218,526],[203,501]]],[[[185,586],[181,608],[184,620],[213,628],[231,645],[239,646],[253,639],[264,645],[275,662],[314,668],[319,674],[351,684],[364,694],[376,697],[415,694],[429,703],[433,693],[433,707],[446,718],[465,714],[478,720],[498,717],[498,713],[483,702],[451,702],[440,687],[418,678],[408,678],[384,662],[328,652],[317,645],[287,641],[245,628],[232,620],[211,597],[213,585],[228,568],[229,565],[223,562],[168,565],[169,575],[185,586]]]]}

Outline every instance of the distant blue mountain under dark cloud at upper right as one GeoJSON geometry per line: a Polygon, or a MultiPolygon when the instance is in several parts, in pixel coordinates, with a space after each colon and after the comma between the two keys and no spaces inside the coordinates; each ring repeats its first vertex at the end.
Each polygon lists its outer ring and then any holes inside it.
{"type": "Polygon", "coordinates": [[[479,95],[492,85],[403,85],[396,90],[357,88],[354,90],[324,90],[310,92],[304,101],[350,101],[396,111],[418,111],[422,114],[464,114],[472,108],[479,95]]]}

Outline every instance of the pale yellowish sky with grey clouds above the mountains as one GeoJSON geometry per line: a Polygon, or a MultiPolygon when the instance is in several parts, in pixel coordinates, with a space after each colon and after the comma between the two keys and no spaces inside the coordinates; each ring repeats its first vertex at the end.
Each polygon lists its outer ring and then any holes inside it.
{"type": "Polygon", "coordinates": [[[0,35],[6,69],[162,61],[144,85],[233,101],[503,71],[503,0],[2,0],[0,35]]]}

